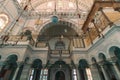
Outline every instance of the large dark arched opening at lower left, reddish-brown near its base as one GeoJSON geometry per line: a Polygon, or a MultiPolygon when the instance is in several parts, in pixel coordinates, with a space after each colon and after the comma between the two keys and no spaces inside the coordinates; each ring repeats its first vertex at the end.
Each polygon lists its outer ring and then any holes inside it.
{"type": "Polygon", "coordinates": [[[0,78],[3,80],[12,80],[17,68],[17,55],[13,54],[7,57],[0,71],[0,78]]]}

